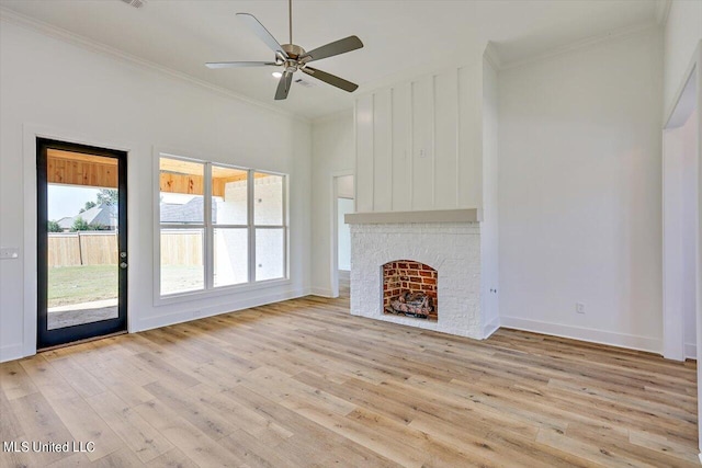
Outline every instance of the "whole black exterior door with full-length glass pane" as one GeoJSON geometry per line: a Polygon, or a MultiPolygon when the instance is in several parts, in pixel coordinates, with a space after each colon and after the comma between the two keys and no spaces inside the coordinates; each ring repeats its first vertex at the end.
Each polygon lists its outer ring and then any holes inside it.
{"type": "Polygon", "coordinates": [[[37,349],[126,331],[127,155],[37,138],[37,349]]]}

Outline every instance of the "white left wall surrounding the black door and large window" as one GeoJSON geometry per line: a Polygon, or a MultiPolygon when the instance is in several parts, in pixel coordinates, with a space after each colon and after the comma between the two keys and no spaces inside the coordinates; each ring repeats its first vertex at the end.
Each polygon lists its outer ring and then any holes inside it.
{"type": "Polygon", "coordinates": [[[36,128],[43,135],[129,152],[131,331],[308,292],[309,124],[4,20],[0,101],[0,244],[21,248],[19,260],[0,262],[0,359],[31,354],[35,346],[36,128]],[[154,148],[291,174],[291,281],[155,307],[154,148]],[[29,169],[23,174],[24,167],[29,169]]]}

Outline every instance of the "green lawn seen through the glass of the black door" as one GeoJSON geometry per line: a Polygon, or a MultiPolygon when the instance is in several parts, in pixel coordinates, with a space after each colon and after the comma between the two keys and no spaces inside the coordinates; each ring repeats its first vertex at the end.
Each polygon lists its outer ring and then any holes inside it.
{"type": "Polygon", "coordinates": [[[49,267],[48,307],[116,298],[117,274],[117,265],[49,267]]]}

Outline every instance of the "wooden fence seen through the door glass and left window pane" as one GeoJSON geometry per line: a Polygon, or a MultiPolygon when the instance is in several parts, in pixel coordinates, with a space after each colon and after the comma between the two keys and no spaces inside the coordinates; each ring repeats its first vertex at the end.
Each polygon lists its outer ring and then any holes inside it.
{"type": "MultiPolygon", "coordinates": [[[[163,265],[202,265],[202,232],[163,230],[163,265]]],[[[117,235],[114,231],[49,232],[48,266],[116,265],[117,235]]]]}

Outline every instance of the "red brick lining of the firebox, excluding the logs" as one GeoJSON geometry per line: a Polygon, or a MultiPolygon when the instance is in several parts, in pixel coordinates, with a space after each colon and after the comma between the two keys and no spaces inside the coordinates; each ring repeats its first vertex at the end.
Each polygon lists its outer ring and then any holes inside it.
{"type": "Polygon", "coordinates": [[[434,269],[423,263],[411,260],[397,260],[383,265],[383,311],[388,315],[397,315],[390,304],[406,292],[423,293],[433,303],[433,311],[429,312],[427,320],[437,321],[438,297],[437,297],[438,274],[434,269]]]}

